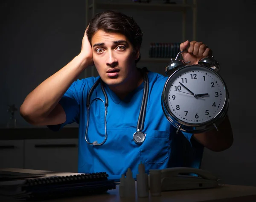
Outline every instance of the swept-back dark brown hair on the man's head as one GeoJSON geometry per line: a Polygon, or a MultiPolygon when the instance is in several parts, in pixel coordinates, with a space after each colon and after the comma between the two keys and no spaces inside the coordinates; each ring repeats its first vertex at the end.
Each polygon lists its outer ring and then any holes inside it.
{"type": "MultiPolygon", "coordinates": [[[[98,30],[125,35],[133,46],[134,54],[140,49],[143,36],[140,27],[132,17],[128,17],[119,11],[107,10],[95,15],[86,31],[90,43],[93,35],[98,30]]],[[[135,60],[135,63],[139,60],[140,57],[135,60]]]]}

